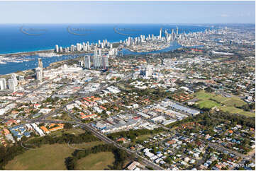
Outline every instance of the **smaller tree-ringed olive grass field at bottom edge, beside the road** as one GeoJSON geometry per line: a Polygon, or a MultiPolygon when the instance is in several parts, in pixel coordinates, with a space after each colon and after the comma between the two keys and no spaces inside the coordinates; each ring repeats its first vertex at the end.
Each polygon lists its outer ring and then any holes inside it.
{"type": "Polygon", "coordinates": [[[112,152],[90,154],[77,161],[76,170],[104,170],[115,161],[112,152]]]}

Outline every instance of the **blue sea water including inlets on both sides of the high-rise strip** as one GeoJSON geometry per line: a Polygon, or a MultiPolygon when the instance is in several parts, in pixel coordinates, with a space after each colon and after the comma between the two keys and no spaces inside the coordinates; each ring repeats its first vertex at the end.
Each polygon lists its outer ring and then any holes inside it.
{"type": "MultiPolygon", "coordinates": [[[[119,42],[128,37],[140,35],[159,35],[160,28],[172,29],[179,33],[204,31],[208,27],[197,25],[160,25],[160,24],[1,24],[0,25],[0,55],[16,52],[32,52],[37,50],[54,49],[55,45],[68,47],[77,42],[119,42]]],[[[169,51],[181,47],[173,43],[167,49],[169,51]]],[[[157,51],[159,52],[159,51],[157,51]]],[[[123,54],[136,54],[123,50],[123,54]]],[[[154,52],[151,52],[154,53],[154,52]]],[[[48,66],[55,61],[73,58],[75,56],[47,57],[43,58],[43,65],[48,66]]],[[[31,61],[23,63],[0,64],[0,74],[12,73],[33,69],[37,66],[38,56],[28,57],[31,61]]]]}

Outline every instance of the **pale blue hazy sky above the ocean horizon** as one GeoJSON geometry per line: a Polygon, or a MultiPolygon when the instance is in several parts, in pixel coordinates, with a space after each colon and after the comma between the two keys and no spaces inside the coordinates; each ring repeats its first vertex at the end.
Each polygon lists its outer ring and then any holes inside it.
{"type": "Polygon", "coordinates": [[[0,1],[0,23],[255,23],[255,1],[0,1]]]}

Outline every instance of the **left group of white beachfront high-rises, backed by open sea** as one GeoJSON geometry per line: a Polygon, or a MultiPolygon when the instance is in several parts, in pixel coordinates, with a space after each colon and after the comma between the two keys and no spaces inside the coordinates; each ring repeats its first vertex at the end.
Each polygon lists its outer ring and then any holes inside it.
{"type": "Polygon", "coordinates": [[[59,47],[58,45],[55,45],[55,52],[82,52],[82,51],[91,51],[94,49],[104,49],[104,48],[112,48],[113,45],[108,42],[107,40],[101,40],[98,41],[98,43],[91,43],[89,42],[82,42],[77,43],[76,45],[71,45],[70,47],[59,47]]]}

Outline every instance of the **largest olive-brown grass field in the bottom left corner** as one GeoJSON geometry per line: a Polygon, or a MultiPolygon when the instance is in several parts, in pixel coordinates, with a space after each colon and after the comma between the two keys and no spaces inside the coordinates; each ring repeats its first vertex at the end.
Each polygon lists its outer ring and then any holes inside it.
{"type": "Polygon", "coordinates": [[[66,170],[65,158],[74,150],[67,144],[43,145],[36,150],[16,156],[5,166],[6,170],[66,170]]]}

